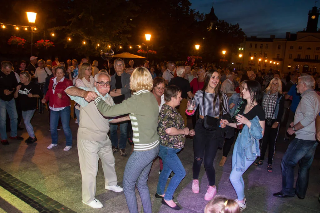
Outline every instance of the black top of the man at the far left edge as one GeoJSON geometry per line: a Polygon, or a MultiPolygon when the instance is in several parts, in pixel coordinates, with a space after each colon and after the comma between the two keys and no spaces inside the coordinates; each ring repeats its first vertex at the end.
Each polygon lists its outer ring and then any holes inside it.
{"type": "Polygon", "coordinates": [[[18,81],[14,72],[10,72],[9,75],[6,75],[2,71],[0,71],[0,99],[1,100],[11,101],[17,85],[18,85],[18,81]],[[4,94],[5,89],[8,89],[13,92],[9,95],[5,95],[4,94]]]}

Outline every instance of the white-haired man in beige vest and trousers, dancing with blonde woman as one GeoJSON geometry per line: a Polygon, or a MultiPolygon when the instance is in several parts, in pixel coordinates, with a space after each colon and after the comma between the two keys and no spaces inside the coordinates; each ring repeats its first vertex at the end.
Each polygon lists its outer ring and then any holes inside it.
{"type": "Polygon", "coordinates": [[[94,197],[99,158],[105,177],[105,188],[114,192],[123,191],[117,185],[115,158],[108,132],[109,123],[126,121],[129,120],[129,117],[108,120],[101,115],[94,102],[91,102],[93,93],[96,93],[107,104],[114,105],[108,94],[111,85],[110,79],[107,73],[101,72],[94,76],[95,87],[70,86],[65,90],[70,98],[81,106],[77,143],[82,176],[82,202],[95,209],[102,208],[101,202],[94,197]]]}

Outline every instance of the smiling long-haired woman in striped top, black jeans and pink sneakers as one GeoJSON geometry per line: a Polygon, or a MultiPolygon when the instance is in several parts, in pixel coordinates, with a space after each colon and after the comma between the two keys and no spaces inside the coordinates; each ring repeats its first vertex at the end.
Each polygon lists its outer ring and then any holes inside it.
{"type": "MultiPolygon", "coordinates": [[[[193,182],[192,191],[199,193],[199,173],[202,161],[209,180],[207,193],[204,199],[210,201],[217,193],[215,186],[216,173],[213,168],[213,160],[216,156],[220,135],[215,130],[204,128],[204,117],[210,116],[219,119],[223,114],[229,113],[228,97],[220,91],[220,74],[217,70],[208,70],[205,74],[204,86],[194,96],[193,113],[199,107],[199,119],[196,122],[193,138],[194,161],[192,166],[193,182]]],[[[222,127],[222,126],[221,126],[222,127]]],[[[216,127],[219,128],[219,127],[216,127]]],[[[221,136],[222,137],[222,136],[221,136]]]]}

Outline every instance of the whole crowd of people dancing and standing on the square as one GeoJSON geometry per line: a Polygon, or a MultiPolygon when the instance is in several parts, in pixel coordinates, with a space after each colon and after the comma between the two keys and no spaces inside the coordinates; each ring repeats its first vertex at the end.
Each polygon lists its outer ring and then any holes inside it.
{"type": "Polygon", "coordinates": [[[36,142],[31,119],[36,109],[42,114],[47,105],[52,138],[47,149],[57,146],[58,130],[63,128],[66,138],[63,150],[69,151],[72,148],[70,114],[74,107],[79,125],[77,149],[82,201],[92,208],[103,206],[95,198],[100,158],[105,188],[124,191],[128,209],[135,213],[138,212],[137,186],[144,212],[152,212],[147,180],[153,160],[159,157],[155,197],[172,209],[180,209],[173,201],[173,194],[186,171],[178,153],[183,151],[189,137],[193,139],[194,151],[192,192],[200,191],[202,162],[209,182],[204,199],[210,202],[205,212],[219,212],[213,210],[214,206],[239,212],[247,204],[243,174],[252,164],[258,167],[264,163],[267,149],[267,172],[273,171],[281,125],[287,127],[283,140],[291,143],[281,162],[282,189],[273,195],[282,198],[297,195],[300,199],[306,195],[309,168],[320,139],[317,93],[320,80],[316,73],[294,71],[284,77],[272,69],[268,73],[264,70],[244,73],[217,69],[212,64],[199,68],[178,66],[172,61],[155,66],[145,61],[135,66],[133,60],[126,65],[122,59],[115,59],[112,66],[104,64],[105,69],[99,70],[98,61],[90,64],[86,58],[80,64],[76,59],[65,64],[59,62],[59,57],[44,61],[34,56],[26,64],[21,61],[17,68],[10,61],[1,63],[1,143],[9,145],[6,122],[10,123],[9,138],[23,140],[17,133],[17,129],[22,129],[19,115],[29,135],[25,142],[36,142]],[[188,116],[192,117],[193,129],[187,127],[188,116]],[[127,156],[127,142],[133,145],[133,150],[124,169],[122,188],[117,184],[113,153],[119,151],[121,156],[127,156]],[[229,179],[237,199],[227,200],[216,196],[213,161],[222,148],[219,166],[224,166],[233,143],[229,179]],[[294,189],[294,168],[298,162],[294,189]]]}

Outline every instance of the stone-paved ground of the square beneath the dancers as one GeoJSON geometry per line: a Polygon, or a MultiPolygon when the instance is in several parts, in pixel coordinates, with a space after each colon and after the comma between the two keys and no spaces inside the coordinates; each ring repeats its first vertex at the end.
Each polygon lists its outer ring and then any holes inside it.
{"type": "MultiPolygon", "coordinates": [[[[188,120],[188,122],[191,120],[188,120]]],[[[81,173],[79,168],[78,152],[76,147],[77,124],[70,122],[73,134],[73,146],[70,151],[63,151],[65,139],[63,130],[59,130],[58,146],[47,150],[51,143],[48,130],[48,115],[35,114],[31,120],[38,141],[27,145],[24,141],[10,140],[9,146],[0,145],[0,212],[128,212],[124,193],[115,193],[104,189],[104,177],[99,162],[97,175],[96,198],[104,205],[101,209],[92,209],[82,203],[81,199],[81,173]],[[31,210],[30,210],[31,208],[31,210]]],[[[21,125],[21,127],[24,127],[21,125]]],[[[18,131],[25,139],[28,137],[26,130],[18,131]]],[[[273,172],[268,173],[266,163],[260,167],[251,166],[244,174],[245,196],[247,209],[245,213],[257,212],[320,212],[320,204],[317,201],[320,191],[320,148],[316,150],[316,156],[310,168],[309,187],[306,198],[300,200],[297,197],[279,199],[272,193],[281,190],[280,161],[288,142],[283,142],[279,136],[277,151],[273,163],[273,172]]],[[[131,147],[127,144],[126,152],[131,147]]],[[[229,181],[231,171],[231,152],[228,155],[224,167],[219,167],[222,151],[218,151],[214,166],[216,170],[216,186],[218,194],[227,198],[236,199],[236,193],[229,181]]],[[[124,166],[128,157],[121,157],[120,153],[114,153],[116,159],[116,173],[118,182],[122,185],[124,166]]],[[[193,144],[192,139],[187,139],[185,148],[179,153],[180,160],[186,169],[186,177],[182,180],[176,192],[174,201],[182,208],[180,211],[172,210],[161,204],[161,199],[154,197],[158,181],[159,161],[155,160],[150,171],[148,185],[151,194],[153,212],[171,213],[196,213],[204,212],[208,201],[204,200],[206,186],[208,184],[204,168],[200,173],[200,193],[194,194],[192,185],[193,144]]],[[[297,176],[297,168],[295,175],[297,176]]],[[[138,191],[136,191],[139,211],[143,212],[138,191]]]]}

